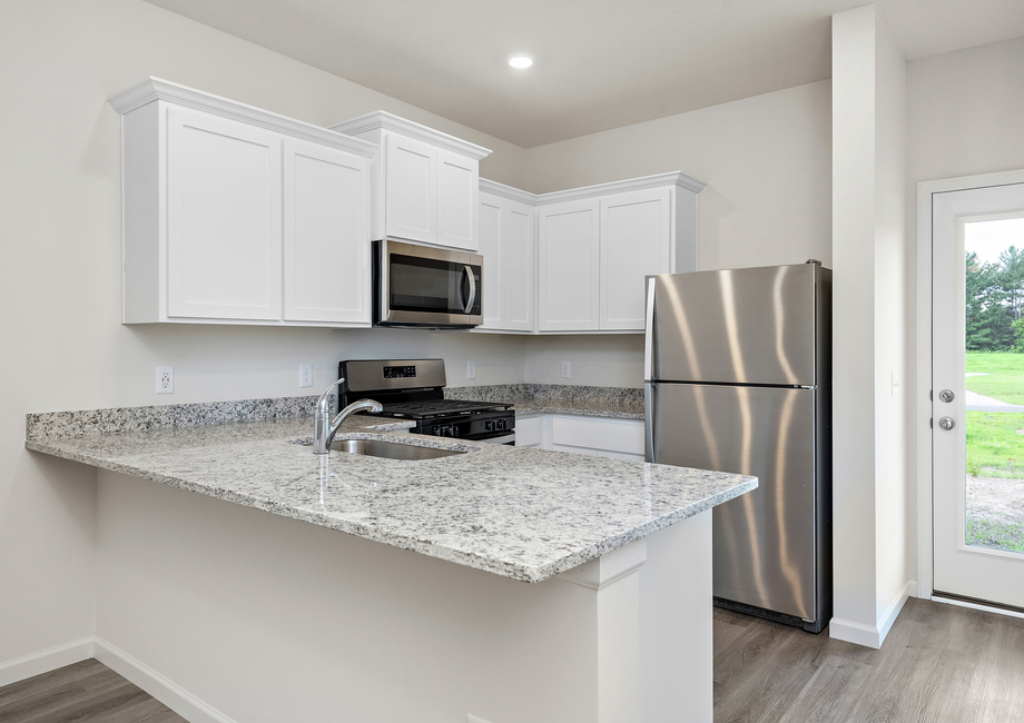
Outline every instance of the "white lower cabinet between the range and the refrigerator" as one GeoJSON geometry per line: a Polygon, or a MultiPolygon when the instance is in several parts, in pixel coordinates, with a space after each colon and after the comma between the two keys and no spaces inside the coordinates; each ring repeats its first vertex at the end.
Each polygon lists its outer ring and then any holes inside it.
{"type": "Polygon", "coordinates": [[[515,420],[515,446],[643,462],[643,419],[536,415],[515,420]]]}

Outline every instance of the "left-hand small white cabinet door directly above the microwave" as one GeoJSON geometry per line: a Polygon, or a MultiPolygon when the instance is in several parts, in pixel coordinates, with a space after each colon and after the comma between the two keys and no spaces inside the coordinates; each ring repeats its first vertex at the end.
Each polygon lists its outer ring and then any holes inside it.
{"type": "Polygon", "coordinates": [[[412,138],[384,139],[387,236],[437,240],[437,149],[412,138]]]}

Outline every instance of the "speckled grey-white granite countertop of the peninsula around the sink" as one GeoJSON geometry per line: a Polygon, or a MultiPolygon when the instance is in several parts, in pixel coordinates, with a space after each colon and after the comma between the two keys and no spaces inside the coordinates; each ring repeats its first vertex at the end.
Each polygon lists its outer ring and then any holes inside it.
{"type": "Polygon", "coordinates": [[[442,440],[358,416],[337,438],[466,454],[315,455],[296,444],[313,430],[295,416],[309,399],[29,415],[26,446],[525,582],[757,487],[756,477],[442,440]]]}

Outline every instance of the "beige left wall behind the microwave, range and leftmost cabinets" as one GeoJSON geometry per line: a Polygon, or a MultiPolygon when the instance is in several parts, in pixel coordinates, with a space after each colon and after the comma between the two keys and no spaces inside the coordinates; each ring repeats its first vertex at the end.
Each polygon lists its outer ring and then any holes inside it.
{"type": "MultiPolygon", "coordinates": [[[[524,341],[427,331],[120,321],[120,136],[106,98],[148,76],[327,125],[383,108],[494,149],[521,149],[140,0],[0,3],[0,680],[3,665],[91,635],[96,473],[23,448],[28,412],[306,394],[337,361],[441,356],[453,384],[521,382],[524,341]],[[175,367],[156,397],[155,366],[175,367]],[[461,373],[461,376],[460,376],[461,373]]],[[[11,670],[11,668],[9,668],[11,670]]]]}

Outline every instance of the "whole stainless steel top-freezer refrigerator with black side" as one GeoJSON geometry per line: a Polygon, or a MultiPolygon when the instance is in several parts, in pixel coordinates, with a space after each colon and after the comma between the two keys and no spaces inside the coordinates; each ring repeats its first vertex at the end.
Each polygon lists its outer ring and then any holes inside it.
{"type": "Polygon", "coordinates": [[[647,460],[757,475],[715,507],[715,604],[831,617],[831,271],[648,277],[647,460]]]}

